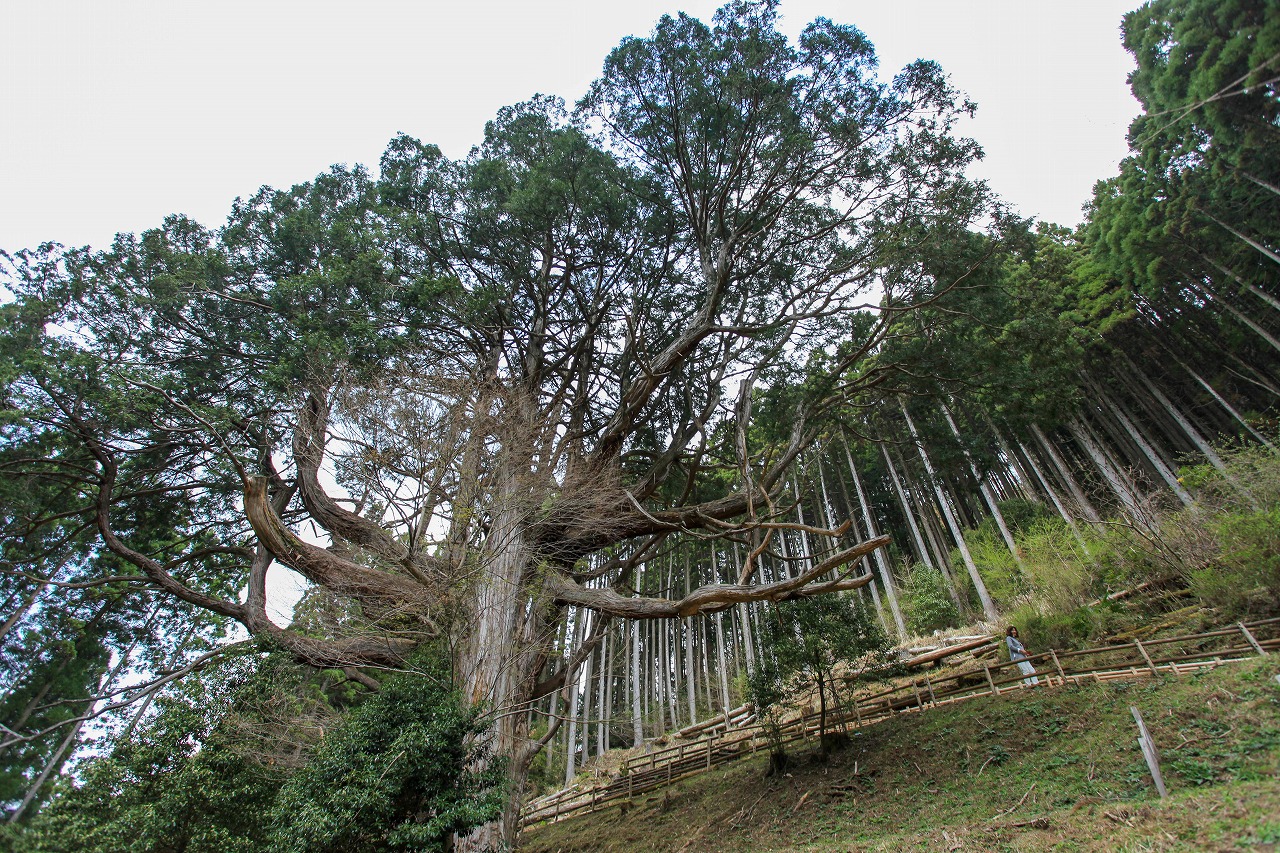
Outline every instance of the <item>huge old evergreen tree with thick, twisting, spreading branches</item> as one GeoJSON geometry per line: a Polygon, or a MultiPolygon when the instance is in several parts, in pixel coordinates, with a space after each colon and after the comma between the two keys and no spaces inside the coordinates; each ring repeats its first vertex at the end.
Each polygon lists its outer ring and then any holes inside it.
{"type": "Polygon", "coordinates": [[[970,105],[936,65],[882,82],[859,31],[819,19],[790,44],[776,19],[768,1],[664,18],[611,54],[576,123],[509,108],[462,161],[397,138],[379,179],[262,190],[216,233],[175,216],[15,256],[4,441],[70,452],[13,474],[58,478],[60,515],[127,571],[301,661],[399,666],[449,638],[466,701],[500,712],[509,839],[541,747],[512,711],[579,665],[548,666],[566,607],[675,619],[846,589],[864,581],[815,581],[877,544],[772,587],[740,567],[682,601],[631,594],[677,532],[750,548],[780,523],[769,496],[860,387],[849,366],[937,293],[895,283],[868,319],[879,270],[923,222],[984,210],[963,177],[978,149],[951,133],[970,105]],[[762,441],[751,388],[792,362],[809,382],[762,403],[788,424],[762,441]],[[274,625],[273,562],[348,617],[274,625]]]}

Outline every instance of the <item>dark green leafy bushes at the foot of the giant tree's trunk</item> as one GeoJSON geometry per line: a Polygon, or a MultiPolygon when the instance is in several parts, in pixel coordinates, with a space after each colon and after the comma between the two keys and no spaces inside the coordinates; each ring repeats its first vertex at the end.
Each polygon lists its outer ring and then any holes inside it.
{"type": "Polygon", "coordinates": [[[442,850],[500,813],[502,765],[472,770],[485,763],[468,745],[484,726],[443,665],[385,680],[334,725],[324,694],[342,692],[279,653],[210,667],[60,781],[27,826],[0,830],[0,849],[442,850]],[[280,697],[289,707],[266,707],[280,697]]]}

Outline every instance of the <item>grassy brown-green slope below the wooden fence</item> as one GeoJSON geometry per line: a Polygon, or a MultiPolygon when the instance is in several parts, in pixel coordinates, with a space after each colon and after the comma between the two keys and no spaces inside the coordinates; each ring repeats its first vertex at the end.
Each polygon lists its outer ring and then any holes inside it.
{"type": "Polygon", "coordinates": [[[558,824],[522,853],[1280,850],[1280,656],[901,715],[782,776],[755,758],[558,824]],[[1161,753],[1161,802],[1129,711],[1161,753]]]}

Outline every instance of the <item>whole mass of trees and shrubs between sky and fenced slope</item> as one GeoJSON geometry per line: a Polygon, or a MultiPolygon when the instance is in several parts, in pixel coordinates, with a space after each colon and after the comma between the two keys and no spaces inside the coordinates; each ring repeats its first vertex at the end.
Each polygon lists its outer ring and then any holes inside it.
{"type": "Polygon", "coordinates": [[[504,849],[833,644],[1280,615],[1277,12],[1125,17],[1075,231],[938,65],[739,0],[461,160],[4,254],[0,848],[504,849]]]}

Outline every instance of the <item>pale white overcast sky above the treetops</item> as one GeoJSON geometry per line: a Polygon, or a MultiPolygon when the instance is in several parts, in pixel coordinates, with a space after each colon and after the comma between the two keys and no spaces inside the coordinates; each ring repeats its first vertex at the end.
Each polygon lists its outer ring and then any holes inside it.
{"type": "MultiPolygon", "coordinates": [[[[498,108],[581,96],[604,55],[714,0],[0,0],[0,248],[105,246],[170,213],[406,132],[463,156],[498,108]]],[[[978,102],[975,168],[1028,216],[1075,224],[1138,105],[1120,17],[1137,0],[782,0],[783,27],[860,27],[887,74],[934,59],[978,102]]]]}

